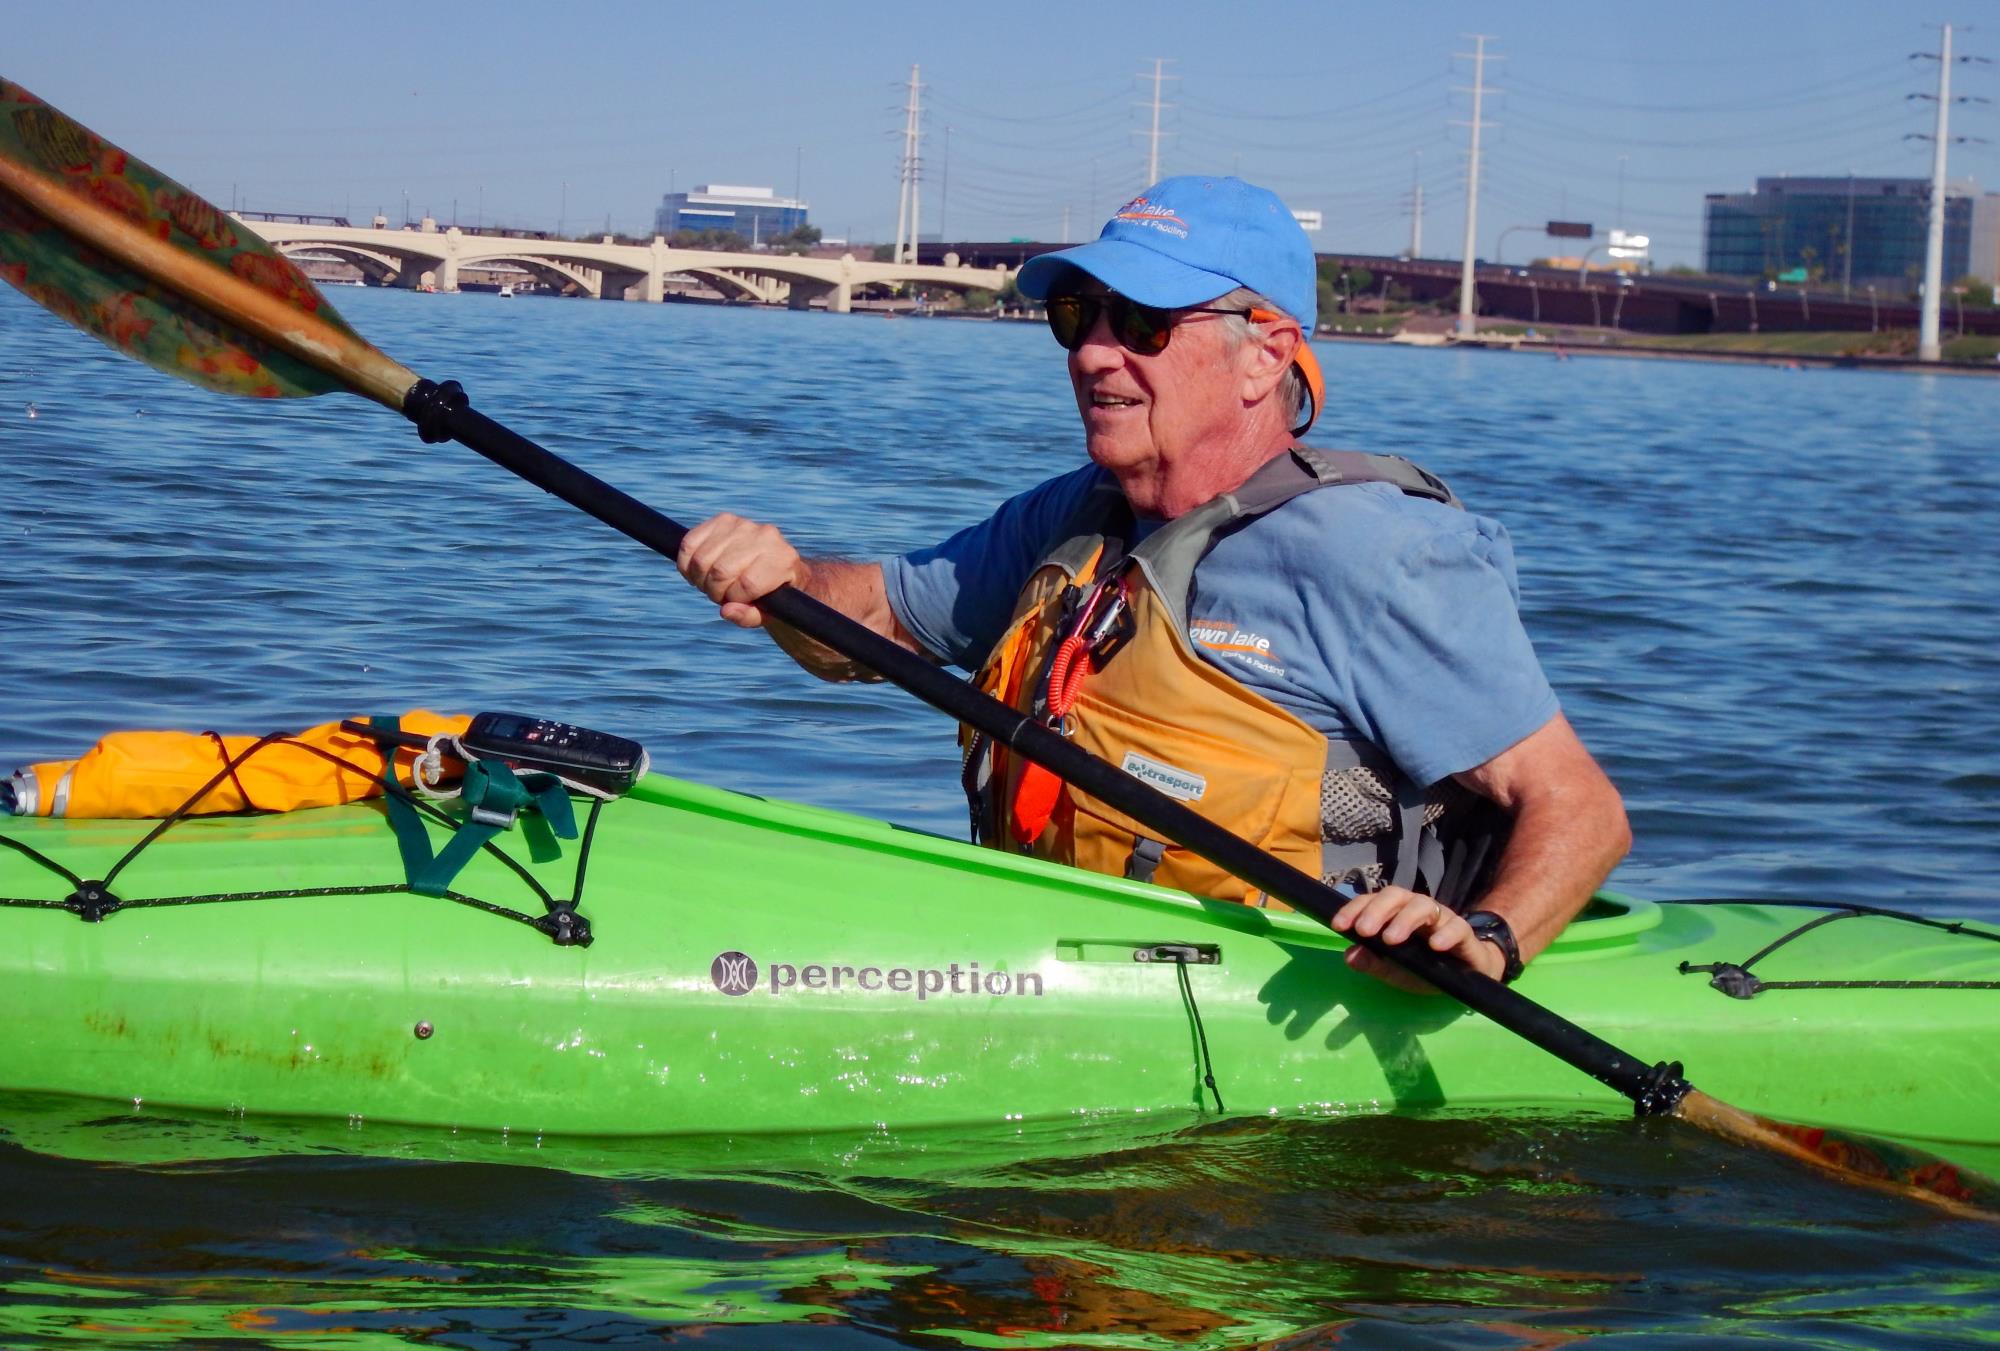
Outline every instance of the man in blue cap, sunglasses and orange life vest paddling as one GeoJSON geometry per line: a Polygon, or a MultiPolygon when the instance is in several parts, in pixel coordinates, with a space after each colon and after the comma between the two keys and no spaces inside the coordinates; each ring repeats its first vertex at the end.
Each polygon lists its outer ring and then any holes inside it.
{"type": "MultiPolygon", "coordinates": [[[[1030,260],[1090,464],[882,564],[766,524],[688,532],[734,624],[792,584],[1358,897],[1336,929],[1424,937],[1512,979],[1630,845],[1520,622],[1506,532],[1406,460],[1298,442],[1322,404],[1312,248],[1234,178],[1168,178],[1030,260]]],[[[866,677],[772,624],[826,679],[866,677]]],[[[974,837],[1272,903],[966,737],[974,837]]],[[[1366,949],[1350,965],[1412,983],[1366,949]]]]}

